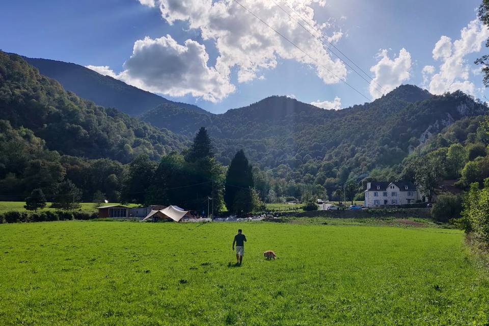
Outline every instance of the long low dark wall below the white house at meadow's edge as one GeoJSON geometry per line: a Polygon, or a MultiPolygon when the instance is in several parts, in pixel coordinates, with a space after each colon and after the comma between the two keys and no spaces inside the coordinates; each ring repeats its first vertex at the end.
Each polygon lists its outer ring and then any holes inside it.
{"type": "Polygon", "coordinates": [[[354,218],[421,218],[431,219],[431,209],[429,208],[394,208],[394,209],[345,209],[345,210],[316,210],[294,214],[300,218],[314,218],[323,216],[337,219],[354,218]]]}

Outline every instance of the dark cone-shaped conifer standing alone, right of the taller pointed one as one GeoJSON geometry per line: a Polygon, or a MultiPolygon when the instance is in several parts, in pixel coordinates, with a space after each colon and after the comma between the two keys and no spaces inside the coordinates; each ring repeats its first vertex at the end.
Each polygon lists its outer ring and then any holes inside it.
{"type": "Polygon", "coordinates": [[[234,155],[226,173],[224,202],[228,210],[235,213],[240,212],[240,209],[238,210],[238,208],[234,207],[237,202],[236,196],[241,190],[248,191],[253,186],[252,167],[248,162],[248,158],[244,155],[244,151],[239,150],[234,155]]]}

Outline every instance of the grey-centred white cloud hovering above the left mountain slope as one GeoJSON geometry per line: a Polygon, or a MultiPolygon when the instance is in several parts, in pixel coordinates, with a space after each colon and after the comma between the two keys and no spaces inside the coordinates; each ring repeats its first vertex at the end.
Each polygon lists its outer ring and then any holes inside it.
{"type": "Polygon", "coordinates": [[[235,88],[226,76],[207,66],[208,60],[204,45],[193,40],[180,45],[167,35],[136,41],[131,57],[119,74],[107,66],[87,67],[150,92],[171,96],[191,94],[216,102],[235,88]]]}

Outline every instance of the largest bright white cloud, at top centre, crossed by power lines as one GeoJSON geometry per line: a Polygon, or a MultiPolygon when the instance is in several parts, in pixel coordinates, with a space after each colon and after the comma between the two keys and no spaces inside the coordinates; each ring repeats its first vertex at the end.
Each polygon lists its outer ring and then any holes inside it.
{"type": "MultiPolygon", "coordinates": [[[[218,50],[218,57],[215,66],[208,69],[215,69],[220,78],[229,80],[231,71],[236,69],[238,83],[250,82],[260,78],[263,70],[274,69],[279,59],[295,60],[313,67],[325,84],[340,83],[346,77],[347,70],[344,64],[339,59],[332,59],[320,40],[313,38],[296,21],[291,20],[279,7],[268,0],[241,0],[240,3],[315,60],[230,0],[140,0],[140,2],[147,6],[158,5],[161,16],[168,23],[184,21],[188,23],[190,29],[198,30],[204,40],[213,41],[218,50]]],[[[296,0],[289,1],[288,5],[307,19],[314,29],[321,31],[324,37],[333,42],[339,41],[343,36],[342,32],[332,31],[327,35],[325,30],[331,29],[331,26],[318,24],[314,20],[312,8],[314,3],[319,6],[325,5],[323,0],[296,0]]],[[[284,5],[283,7],[288,10],[284,5]]],[[[131,59],[126,64],[130,61],[131,59]]],[[[146,71],[146,73],[150,72],[146,71]]],[[[136,67],[132,68],[132,75],[135,74],[137,74],[136,67]]],[[[140,80],[144,79],[141,74],[138,75],[140,80]]],[[[155,74],[151,72],[151,75],[152,82],[156,82],[155,74]]],[[[155,89],[148,82],[144,83],[145,89],[155,89]]],[[[229,91],[230,87],[227,89],[229,91]]],[[[173,89],[173,94],[175,93],[178,93],[176,88],[173,89]]],[[[226,93],[228,92],[211,95],[210,98],[221,99],[226,96],[226,93]]]]}

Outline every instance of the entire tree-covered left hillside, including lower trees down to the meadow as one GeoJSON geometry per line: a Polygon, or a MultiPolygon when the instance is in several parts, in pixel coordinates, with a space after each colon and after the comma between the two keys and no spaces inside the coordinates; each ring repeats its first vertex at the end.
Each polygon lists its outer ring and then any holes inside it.
{"type": "Polygon", "coordinates": [[[72,181],[80,199],[99,191],[118,201],[127,166],[180,152],[186,138],[63,90],[17,55],[0,51],[0,199],[23,200],[35,188],[48,199],[72,181]]]}

